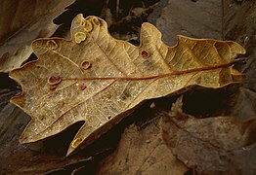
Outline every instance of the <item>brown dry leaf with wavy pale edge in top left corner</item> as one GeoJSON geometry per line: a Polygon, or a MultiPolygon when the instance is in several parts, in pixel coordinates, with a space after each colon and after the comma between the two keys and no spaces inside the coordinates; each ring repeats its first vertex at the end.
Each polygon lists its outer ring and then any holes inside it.
{"type": "Polygon", "coordinates": [[[31,42],[51,36],[58,25],[53,19],[74,0],[1,0],[0,72],[19,68],[32,53],[31,42]]]}

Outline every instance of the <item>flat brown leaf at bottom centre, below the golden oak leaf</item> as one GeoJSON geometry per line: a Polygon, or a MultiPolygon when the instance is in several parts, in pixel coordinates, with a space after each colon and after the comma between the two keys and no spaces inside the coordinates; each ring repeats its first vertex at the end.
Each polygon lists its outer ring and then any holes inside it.
{"type": "Polygon", "coordinates": [[[184,174],[188,168],[174,157],[154,124],[126,128],[113,154],[101,162],[97,174],[184,174]]]}

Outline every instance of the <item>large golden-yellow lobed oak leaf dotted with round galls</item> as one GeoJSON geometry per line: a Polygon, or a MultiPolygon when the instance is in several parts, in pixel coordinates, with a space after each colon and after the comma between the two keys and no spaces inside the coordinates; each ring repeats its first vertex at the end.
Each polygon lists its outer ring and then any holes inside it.
{"type": "Polygon", "coordinates": [[[78,15],[71,40],[40,39],[32,44],[38,60],[10,73],[22,87],[12,102],[31,116],[21,143],[34,142],[85,123],[67,155],[83,141],[89,144],[150,98],[192,85],[220,88],[240,82],[233,68],[235,42],[178,37],[175,47],[161,41],[151,24],[141,29],[141,45],[113,39],[101,18],[78,15]]]}

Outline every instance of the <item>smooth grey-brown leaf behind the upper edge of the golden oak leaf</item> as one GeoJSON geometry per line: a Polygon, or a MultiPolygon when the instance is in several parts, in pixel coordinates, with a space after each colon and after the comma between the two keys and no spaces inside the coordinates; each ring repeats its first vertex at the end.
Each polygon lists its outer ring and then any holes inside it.
{"type": "Polygon", "coordinates": [[[223,4],[222,0],[168,0],[156,19],[156,27],[169,45],[175,44],[179,34],[223,40],[223,4]]]}

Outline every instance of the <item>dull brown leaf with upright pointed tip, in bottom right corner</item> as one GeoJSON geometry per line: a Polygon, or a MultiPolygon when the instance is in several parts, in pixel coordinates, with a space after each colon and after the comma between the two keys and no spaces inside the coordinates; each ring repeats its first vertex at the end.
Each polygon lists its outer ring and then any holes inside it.
{"type": "Polygon", "coordinates": [[[256,121],[233,117],[196,119],[182,111],[178,98],[162,117],[162,136],[174,156],[202,174],[255,174],[256,121]]]}

